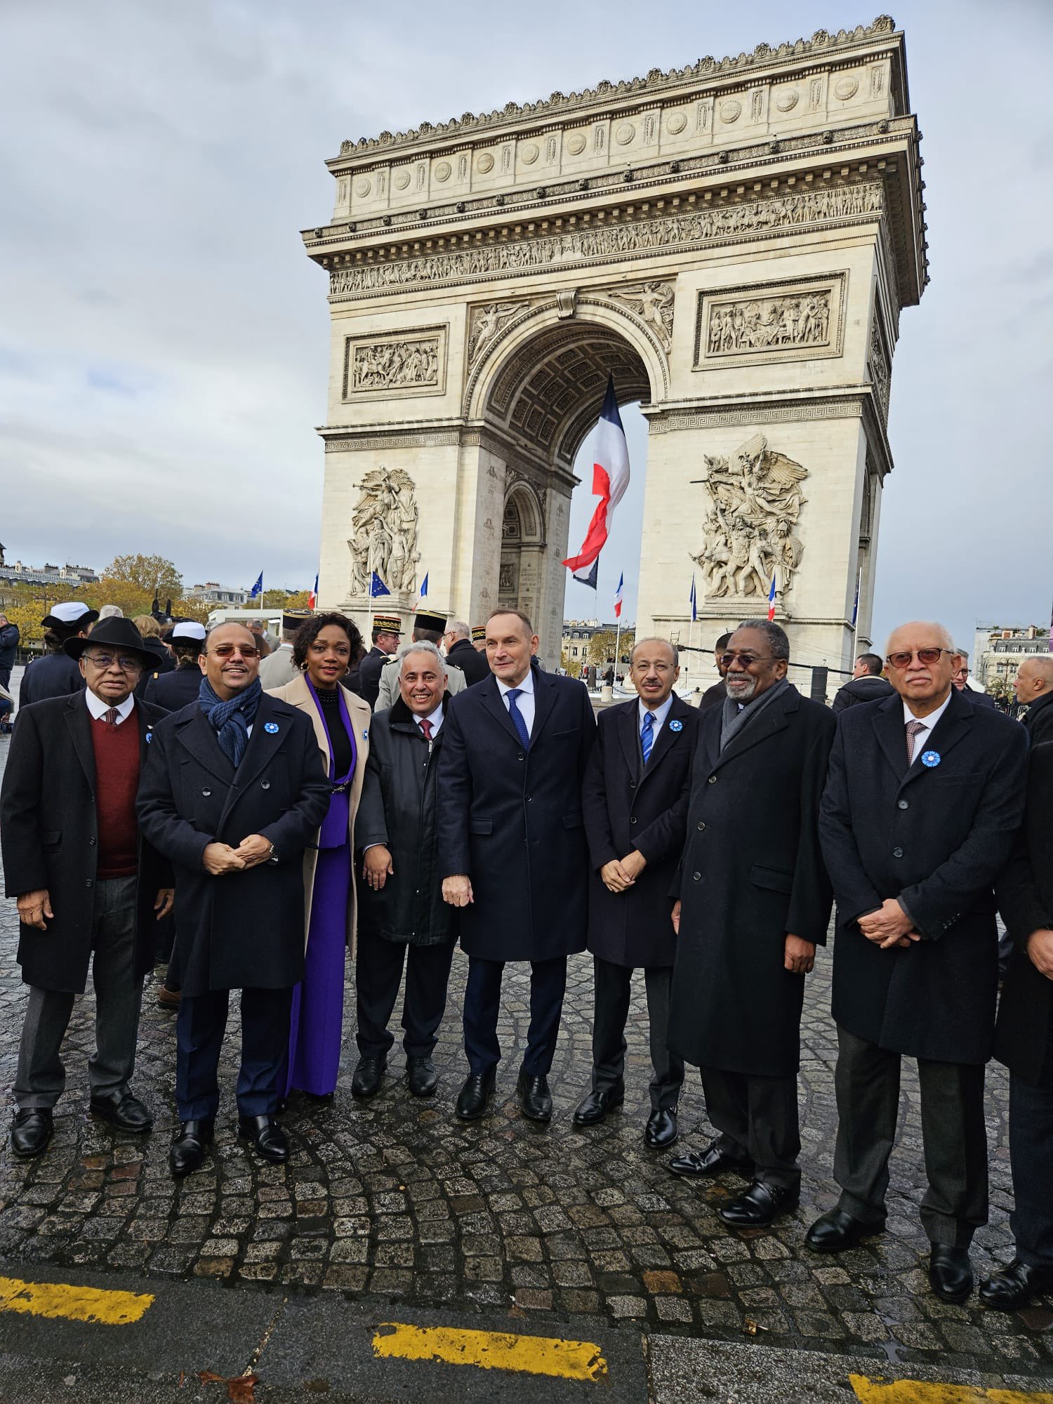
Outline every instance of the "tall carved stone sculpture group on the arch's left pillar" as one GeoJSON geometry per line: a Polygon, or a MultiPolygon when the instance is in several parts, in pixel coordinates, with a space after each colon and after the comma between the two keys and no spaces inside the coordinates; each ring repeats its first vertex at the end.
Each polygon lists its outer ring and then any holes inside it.
{"type": "Polygon", "coordinates": [[[351,518],[351,597],[369,594],[373,571],[392,594],[417,584],[417,498],[403,469],[376,468],[358,487],[351,518]]]}

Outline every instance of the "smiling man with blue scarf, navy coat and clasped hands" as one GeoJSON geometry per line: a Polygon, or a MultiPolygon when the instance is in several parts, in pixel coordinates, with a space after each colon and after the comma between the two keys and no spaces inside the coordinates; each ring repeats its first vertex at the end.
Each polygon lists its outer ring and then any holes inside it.
{"type": "Polygon", "coordinates": [[[263,1160],[289,1158],[275,1113],[303,976],[303,851],[331,795],[310,720],[261,691],[244,625],[212,629],[201,671],[197,703],[154,731],[139,788],[142,831],[176,869],[177,1177],[212,1141],[230,990],[241,991],[239,1133],[263,1160]]]}

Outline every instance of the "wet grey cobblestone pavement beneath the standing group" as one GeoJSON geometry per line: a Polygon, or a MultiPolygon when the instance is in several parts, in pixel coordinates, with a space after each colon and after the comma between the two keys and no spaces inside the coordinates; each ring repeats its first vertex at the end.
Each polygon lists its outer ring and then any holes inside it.
{"type": "MultiPolygon", "coordinates": [[[[0,740],[0,761],[7,744],[0,740]]],[[[0,903],[0,1085],[8,1099],[25,1004],[15,936],[14,903],[0,903]]],[[[493,1113],[470,1126],[458,1123],[453,1101],[465,1073],[458,1012],[466,973],[458,953],[434,1102],[409,1095],[397,1050],[380,1095],[369,1104],[352,1099],[348,981],[337,1097],[322,1108],[291,1102],[284,1125],[293,1154],[286,1167],[263,1165],[236,1137],[232,1011],[215,1153],[181,1184],[166,1165],[176,1123],[173,1016],[157,1008],[147,988],[135,1091],[153,1108],[156,1127],[146,1139],[122,1136],[87,1115],[94,1015],[88,991],[70,1026],[69,1081],[52,1146],[29,1164],[13,1160],[6,1141],[0,1150],[0,1257],[219,1279],[257,1290],[371,1294],[549,1324],[592,1314],[726,1341],[760,1331],[772,1345],[1047,1375],[1049,1302],[1002,1316],[984,1311],[976,1296],[958,1307],[928,1290],[913,1064],[903,1081],[889,1231],[838,1258],[804,1248],[807,1224],[835,1199],[828,970],[828,955],[821,953],[804,1009],[802,1205],[771,1231],[733,1234],[716,1217],[715,1205],[741,1184],[736,1177],[699,1188],[670,1175],[667,1155],[644,1147],[649,1057],[640,987],[628,1031],[625,1108],[601,1126],[573,1127],[570,1115],[590,1068],[591,966],[584,956],[570,962],[550,1078],[552,1126],[524,1120],[514,1101],[528,1018],[525,972],[514,967],[505,984],[505,1057],[493,1113]]],[[[991,1221],[974,1241],[980,1273],[1012,1255],[1005,1109],[1007,1077],[991,1064],[991,1221]]],[[[689,1074],[681,1146],[701,1147],[709,1134],[698,1074],[689,1074]]]]}

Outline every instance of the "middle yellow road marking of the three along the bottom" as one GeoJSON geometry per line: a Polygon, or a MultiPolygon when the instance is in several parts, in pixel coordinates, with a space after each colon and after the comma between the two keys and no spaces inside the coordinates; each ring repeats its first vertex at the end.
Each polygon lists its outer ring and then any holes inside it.
{"type": "Polygon", "coordinates": [[[439,1360],[445,1365],[475,1365],[480,1370],[553,1375],[563,1380],[601,1380],[607,1375],[607,1360],[591,1341],[403,1325],[399,1321],[385,1321],[378,1327],[373,1355],[389,1360],[439,1360]]]}

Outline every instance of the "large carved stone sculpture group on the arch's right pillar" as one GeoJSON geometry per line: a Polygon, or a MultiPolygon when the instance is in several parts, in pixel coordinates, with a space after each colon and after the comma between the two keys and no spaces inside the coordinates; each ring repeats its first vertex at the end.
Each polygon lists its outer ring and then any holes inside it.
{"type": "Polygon", "coordinates": [[[767,597],[772,576],[785,595],[804,555],[796,528],[807,501],[800,490],[807,469],[769,449],[764,434],[754,434],[730,458],[706,455],[703,463],[705,541],[691,559],[706,595],[767,597]]]}

